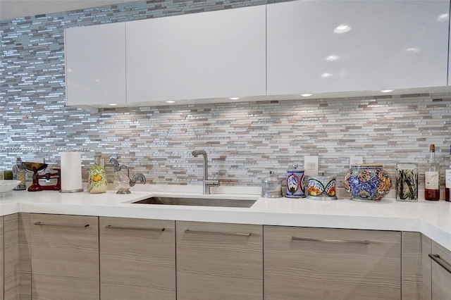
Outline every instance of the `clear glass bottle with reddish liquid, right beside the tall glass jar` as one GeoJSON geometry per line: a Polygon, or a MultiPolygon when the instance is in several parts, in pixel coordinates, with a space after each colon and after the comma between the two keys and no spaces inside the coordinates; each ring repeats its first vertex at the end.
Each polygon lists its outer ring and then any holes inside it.
{"type": "Polygon", "coordinates": [[[435,159],[435,145],[429,145],[429,159],[424,173],[424,199],[438,201],[440,199],[440,164],[435,159]]]}

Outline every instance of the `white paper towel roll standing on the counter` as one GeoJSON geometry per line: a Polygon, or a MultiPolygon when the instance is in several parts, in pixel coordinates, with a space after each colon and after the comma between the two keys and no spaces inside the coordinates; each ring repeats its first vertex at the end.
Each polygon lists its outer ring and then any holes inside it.
{"type": "Polygon", "coordinates": [[[80,152],[61,153],[61,193],[83,192],[82,154],[80,152]]]}

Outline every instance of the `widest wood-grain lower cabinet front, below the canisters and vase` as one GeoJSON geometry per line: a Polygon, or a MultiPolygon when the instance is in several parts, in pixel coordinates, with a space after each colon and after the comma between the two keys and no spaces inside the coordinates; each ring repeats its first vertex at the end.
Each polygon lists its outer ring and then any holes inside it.
{"type": "Polygon", "coordinates": [[[264,227],[265,300],[401,298],[401,232],[264,227]]]}

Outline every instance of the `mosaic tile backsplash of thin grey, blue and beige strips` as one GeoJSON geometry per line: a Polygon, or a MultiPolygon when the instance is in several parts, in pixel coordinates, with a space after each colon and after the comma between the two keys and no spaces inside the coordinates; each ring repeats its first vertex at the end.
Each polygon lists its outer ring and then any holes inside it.
{"type": "MultiPolygon", "coordinates": [[[[65,106],[63,30],[162,15],[266,4],[274,1],[137,1],[0,22],[0,170],[23,161],[58,165],[60,152],[83,151],[83,176],[95,151],[111,154],[150,184],[193,185],[209,175],[221,185],[259,186],[274,170],[281,179],[304,155],[340,175],[350,156],[381,163],[418,162],[420,173],[435,144],[443,167],[451,144],[451,95],[411,94],[101,109],[65,106]]],[[[424,178],[424,177],[423,177],[424,178]]],[[[341,179],[341,178],[339,178],[341,179]]],[[[340,180],[338,180],[340,182],[340,180]]],[[[421,181],[421,177],[420,177],[421,181]]]]}

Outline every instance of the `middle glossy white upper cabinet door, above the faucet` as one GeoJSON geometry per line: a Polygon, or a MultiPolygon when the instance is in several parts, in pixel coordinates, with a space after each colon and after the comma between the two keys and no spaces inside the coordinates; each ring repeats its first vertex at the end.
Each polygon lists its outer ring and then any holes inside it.
{"type": "Polygon", "coordinates": [[[266,94],[266,6],[126,23],[127,101],[266,94]]]}

